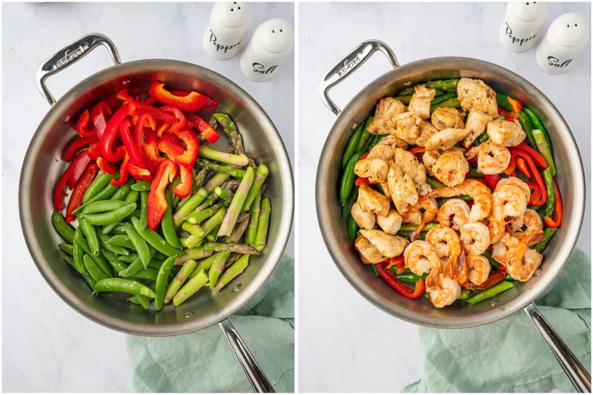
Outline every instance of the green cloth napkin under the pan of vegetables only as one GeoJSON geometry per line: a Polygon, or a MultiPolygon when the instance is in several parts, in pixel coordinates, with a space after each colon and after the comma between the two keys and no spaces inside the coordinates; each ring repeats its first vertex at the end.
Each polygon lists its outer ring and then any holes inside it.
{"type": "MultiPolygon", "coordinates": [[[[294,261],[283,257],[276,271],[231,317],[278,392],[294,392],[294,261]]],[[[126,336],[137,392],[251,392],[218,325],[181,336],[126,336]]]]}

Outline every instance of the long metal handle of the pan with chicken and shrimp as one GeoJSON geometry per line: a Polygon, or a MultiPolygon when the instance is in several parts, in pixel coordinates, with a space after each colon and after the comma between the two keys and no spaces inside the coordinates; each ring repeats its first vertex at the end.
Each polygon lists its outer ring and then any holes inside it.
{"type": "Polygon", "coordinates": [[[591,374],[581,364],[576,355],[570,350],[568,345],[558,336],[558,333],[547,322],[546,318],[541,314],[540,309],[531,303],[525,307],[525,312],[533,321],[535,327],[540,331],[554,357],[558,359],[560,366],[565,371],[566,375],[576,390],[581,393],[591,393],[591,374]]]}

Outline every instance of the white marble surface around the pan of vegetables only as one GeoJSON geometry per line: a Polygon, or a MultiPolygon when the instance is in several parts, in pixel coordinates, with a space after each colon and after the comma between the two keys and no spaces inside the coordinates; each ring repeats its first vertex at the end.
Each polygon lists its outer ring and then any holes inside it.
{"type": "MultiPolygon", "coordinates": [[[[221,61],[205,54],[202,34],[211,7],[208,3],[3,5],[3,188],[12,191],[2,199],[4,391],[132,390],[124,335],[98,326],[66,306],[37,271],[20,231],[15,191],[21,164],[31,134],[49,110],[37,92],[35,75],[55,50],[97,31],[114,41],[124,62],[167,58],[216,70],[259,101],[282,134],[294,163],[294,52],[272,80],[249,81],[241,73],[238,56],[221,61]]],[[[246,40],[257,25],[273,17],[293,21],[294,5],[253,4],[246,40]]],[[[110,63],[107,52],[98,48],[50,78],[50,91],[60,97],[75,82],[110,63]]],[[[293,251],[291,242],[287,253],[293,255],[293,251]]]]}

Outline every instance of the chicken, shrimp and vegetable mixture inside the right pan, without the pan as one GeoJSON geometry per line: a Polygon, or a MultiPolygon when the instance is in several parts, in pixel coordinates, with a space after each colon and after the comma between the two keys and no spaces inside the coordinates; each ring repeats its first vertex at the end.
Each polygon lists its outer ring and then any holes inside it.
{"type": "Polygon", "coordinates": [[[342,168],[342,214],[362,264],[435,307],[530,280],[562,221],[543,124],[480,79],[382,98],[342,168]]]}

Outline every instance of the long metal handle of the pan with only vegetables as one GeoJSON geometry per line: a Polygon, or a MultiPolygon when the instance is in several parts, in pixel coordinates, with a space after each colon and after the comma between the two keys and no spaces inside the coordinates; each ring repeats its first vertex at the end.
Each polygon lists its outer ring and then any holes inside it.
{"type": "Polygon", "coordinates": [[[249,380],[249,384],[251,384],[251,388],[253,388],[254,392],[266,392],[266,393],[275,393],[274,387],[272,387],[272,383],[267,380],[266,374],[263,372],[260,365],[257,364],[256,359],[251,354],[251,351],[247,348],[247,345],[239,336],[237,329],[235,326],[232,325],[231,319],[227,318],[221,323],[222,332],[227,336],[227,340],[231,345],[232,351],[235,352],[237,356],[237,360],[241,367],[243,368],[243,372],[247,376],[247,380],[249,380]]]}

